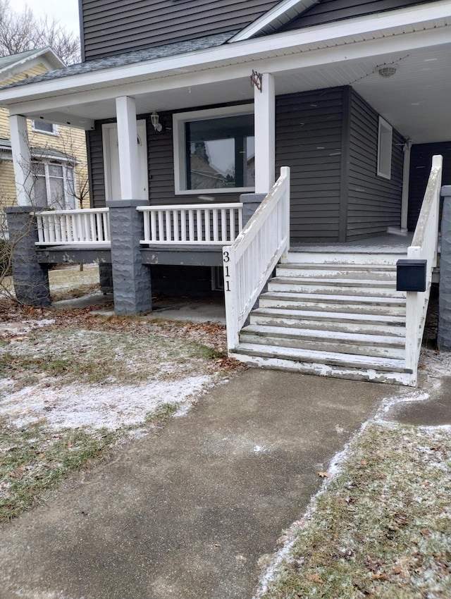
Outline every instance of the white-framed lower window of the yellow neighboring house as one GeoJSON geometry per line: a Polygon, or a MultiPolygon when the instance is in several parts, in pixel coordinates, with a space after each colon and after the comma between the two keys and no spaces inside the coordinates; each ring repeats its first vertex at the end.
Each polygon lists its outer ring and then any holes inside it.
{"type": "Polygon", "coordinates": [[[33,163],[35,204],[55,210],[75,208],[73,166],[53,162],[33,163]]]}

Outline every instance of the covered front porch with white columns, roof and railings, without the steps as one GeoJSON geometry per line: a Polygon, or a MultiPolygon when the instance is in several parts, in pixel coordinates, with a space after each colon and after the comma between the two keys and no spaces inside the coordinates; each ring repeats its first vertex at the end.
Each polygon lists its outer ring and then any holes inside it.
{"type": "Polygon", "coordinates": [[[222,266],[233,353],[278,261],[305,244],[349,254],[350,271],[356,254],[404,256],[408,236],[393,238],[397,252],[383,246],[390,228],[407,232],[412,144],[451,140],[450,19],[443,0],[231,44],[210,36],[1,90],[17,212],[33,211],[25,117],[87,131],[92,210],[36,215],[37,271],[99,252],[116,310],[132,314],[152,309],[152,266],[222,266]]]}

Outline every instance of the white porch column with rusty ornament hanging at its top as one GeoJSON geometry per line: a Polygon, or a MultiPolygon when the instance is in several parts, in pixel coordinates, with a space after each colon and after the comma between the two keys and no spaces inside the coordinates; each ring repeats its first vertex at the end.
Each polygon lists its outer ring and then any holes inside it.
{"type": "Polygon", "coordinates": [[[254,87],[255,192],[267,194],[276,180],[276,85],[271,73],[254,87]]]}

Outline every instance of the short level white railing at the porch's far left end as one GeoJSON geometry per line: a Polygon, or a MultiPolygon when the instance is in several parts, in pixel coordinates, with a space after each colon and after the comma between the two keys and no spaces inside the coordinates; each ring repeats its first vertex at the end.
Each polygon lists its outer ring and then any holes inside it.
{"type": "Polygon", "coordinates": [[[36,245],[95,244],[110,242],[108,208],[46,210],[38,212],[36,245]]]}

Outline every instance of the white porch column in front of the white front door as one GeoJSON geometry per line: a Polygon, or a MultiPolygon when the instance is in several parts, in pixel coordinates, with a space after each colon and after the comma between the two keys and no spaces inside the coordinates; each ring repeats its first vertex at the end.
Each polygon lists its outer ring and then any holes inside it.
{"type": "Polygon", "coordinates": [[[116,98],[118,119],[119,174],[122,199],[140,197],[140,166],[138,161],[135,99],[116,98]]]}

